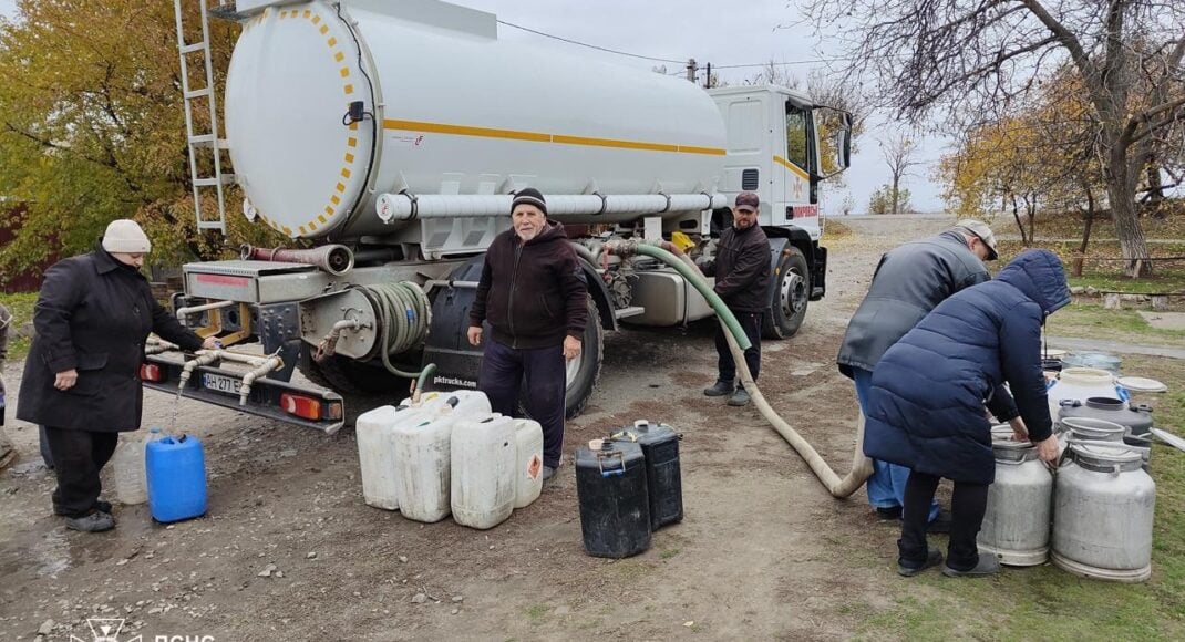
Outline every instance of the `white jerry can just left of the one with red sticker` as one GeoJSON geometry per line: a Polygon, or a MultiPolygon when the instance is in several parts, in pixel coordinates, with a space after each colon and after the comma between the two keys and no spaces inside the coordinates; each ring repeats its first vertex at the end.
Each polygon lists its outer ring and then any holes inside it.
{"type": "Polygon", "coordinates": [[[453,429],[453,519],[493,528],[514,511],[514,419],[461,419],[453,429]]]}

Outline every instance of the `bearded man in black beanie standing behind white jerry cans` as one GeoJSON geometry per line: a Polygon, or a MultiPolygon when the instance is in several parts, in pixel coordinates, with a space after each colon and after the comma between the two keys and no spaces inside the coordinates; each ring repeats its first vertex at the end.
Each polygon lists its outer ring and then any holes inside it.
{"type": "Polygon", "coordinates": [[[588,322],[588,287],[564,226],[547,220],[547,204],[534,188],[511,203],[511,224],[486,251],[478,296],[469,310],[469,342],[481,344],[488,321],[478,387],[494,412],[513,416],[526,380],[526,410],[543,426],[543,479],[563,456],[565,360],[581,354],[588,322]]]}

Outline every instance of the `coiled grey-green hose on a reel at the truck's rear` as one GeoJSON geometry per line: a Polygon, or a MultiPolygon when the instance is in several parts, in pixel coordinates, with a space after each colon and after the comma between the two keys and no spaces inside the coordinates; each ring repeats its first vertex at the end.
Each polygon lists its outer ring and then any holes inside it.
{"type": "Polygon", "coordinates": [[[363,289],[370,295],[383,323],[379,336],[383,367],[392,374],[416,379],[414,397],[418,397],[424,384],[436,372],[436,364],[428,364],[419,372],[406,372],[391,364],[391,355],[423,345],[428,336],[428,327],[431,325],[431,303],[428,301],[428,295],[410,281],[365,285],[363,289]]]}

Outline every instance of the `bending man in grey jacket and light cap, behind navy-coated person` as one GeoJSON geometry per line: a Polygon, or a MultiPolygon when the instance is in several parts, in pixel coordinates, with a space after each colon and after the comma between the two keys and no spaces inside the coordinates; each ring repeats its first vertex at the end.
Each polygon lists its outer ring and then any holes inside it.
{"type": "MultiPolygon", "coordinates": [[[[839,371],[856,384],[861,412],[867,415],[872,371],[889,346],[912,329],[942,300],[991,278],[984,261],[995,259],[992,229],[960,220],[941,235],[905,243],[883,257],[872,284],[852,315],[839,348],[839,371]]],[[[1008,420],[1011,417],[1000,417],[1008,420]]],[[[882,519],[899,519],[909,469],[873,461],[869,503],[882,519]]],[[[930,507],[931,532],[944,532],[949,520],[930,507]]]]}

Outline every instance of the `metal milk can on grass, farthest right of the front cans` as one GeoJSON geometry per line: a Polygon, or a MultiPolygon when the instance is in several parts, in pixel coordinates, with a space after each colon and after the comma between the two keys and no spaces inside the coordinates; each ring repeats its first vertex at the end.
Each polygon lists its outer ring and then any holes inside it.
{"type": "Polygon", "coordinates": [[[1122,447],[1070,445],[1055,483],[1053,564],[1095,579],[1148,579],[1157,484],[1141,466],[1122,447]]]}

